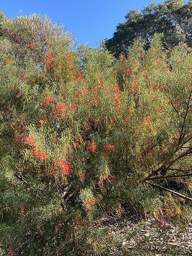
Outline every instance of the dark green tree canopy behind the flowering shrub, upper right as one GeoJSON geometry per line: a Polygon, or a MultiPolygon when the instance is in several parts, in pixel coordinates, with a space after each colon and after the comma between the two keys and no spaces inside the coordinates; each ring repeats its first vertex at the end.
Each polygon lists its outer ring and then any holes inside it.
{"type": "Polygon", "coordinates": [[[163,33],[166,49],[180,45],[185,51],[192,47],[192,1],[168,0],[165,3],[150,3],[141,11],[130,10],[125,22],[118,24],[113,38],[106,41],[108,50],[118,57],[126,54],[137,37],[145,41],[148,48],[155,33],[163,33]]]}

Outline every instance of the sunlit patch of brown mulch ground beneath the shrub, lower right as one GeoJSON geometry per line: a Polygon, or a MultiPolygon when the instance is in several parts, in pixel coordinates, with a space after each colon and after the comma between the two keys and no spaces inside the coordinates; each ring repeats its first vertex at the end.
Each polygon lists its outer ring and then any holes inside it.
{"type": "Polygon", "coordinates": [[[106,215],[102,227],[109,235],[119,239],[122,246],[134,256],[192,256],[192,223],[177,227],[156,218],[146,220],[145,215],[131,209],[125,215],[106,215]]]}

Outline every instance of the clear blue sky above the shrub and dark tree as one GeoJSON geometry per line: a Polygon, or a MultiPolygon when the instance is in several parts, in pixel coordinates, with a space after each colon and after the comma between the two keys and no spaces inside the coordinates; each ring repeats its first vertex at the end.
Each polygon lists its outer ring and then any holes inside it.
{"type": "MultiPolygon", "coordinates": [[[[47,14],[53,21],[73,32],[77,43],[99,43],[111,38],[118,23],[124,22],[130,9],[141,10],[153,0],[0,0],[0,10],[8,17],[47,14]]],[[[164,2],[157,0],[156,3],[164,2]]]]}

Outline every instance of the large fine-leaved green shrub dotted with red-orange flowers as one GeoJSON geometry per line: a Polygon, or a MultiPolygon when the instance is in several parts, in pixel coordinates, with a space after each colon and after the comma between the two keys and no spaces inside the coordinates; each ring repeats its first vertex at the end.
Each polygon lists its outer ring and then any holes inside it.
{"type": "Polygon", "coordinates": [[[155,35],[116,61],[38,15],[5,18],[1,33],[2,255],[109,255],[99,219],[124,204],[187,222],[192,55],[168,58],[155,35]]]}

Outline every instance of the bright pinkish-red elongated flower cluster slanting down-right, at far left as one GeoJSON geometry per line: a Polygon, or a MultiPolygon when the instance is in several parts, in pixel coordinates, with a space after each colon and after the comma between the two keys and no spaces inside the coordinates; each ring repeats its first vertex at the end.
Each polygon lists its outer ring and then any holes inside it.
{"type": "Polygon", "coordinates": [[[35,143],[35,138],[34,137],[31,137],[30,135],[29,136],[24,136],[22,140],[23,140],[24,144],[27,144],[27,145],[31,146],[32,153],[39,160],[44,160],[44,159],[47,158],[46,152],[44,152],[43,150],[41,150],[40,147],[38,147],[38,145],[35,143]]]}

